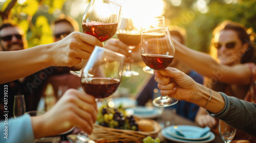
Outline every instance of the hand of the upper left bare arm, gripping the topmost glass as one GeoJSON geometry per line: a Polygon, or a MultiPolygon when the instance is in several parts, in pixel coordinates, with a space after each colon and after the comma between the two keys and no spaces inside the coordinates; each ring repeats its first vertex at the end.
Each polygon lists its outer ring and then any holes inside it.
{"type": "Polygon", "coordinates": [[[97,38],[81,32],[72,32],[60,41],[51,43],[52,66],[73,66],[89,59],[94,46],[103,46],[97,38]]]}

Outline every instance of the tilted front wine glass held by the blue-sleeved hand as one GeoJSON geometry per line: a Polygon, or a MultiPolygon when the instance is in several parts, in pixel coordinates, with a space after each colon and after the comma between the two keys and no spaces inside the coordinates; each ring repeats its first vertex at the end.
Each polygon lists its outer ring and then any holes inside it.
{"type": "MultiPolygon", "coordinates": [[[[88,63],[82,70],[83,91],[94,96],[96,101],[110,97],[120,84],[124,57],[122,54],[95,46],[88,63]]],[[[88,140],[87,134],[83,131],[77,138],[88,140]]]]}

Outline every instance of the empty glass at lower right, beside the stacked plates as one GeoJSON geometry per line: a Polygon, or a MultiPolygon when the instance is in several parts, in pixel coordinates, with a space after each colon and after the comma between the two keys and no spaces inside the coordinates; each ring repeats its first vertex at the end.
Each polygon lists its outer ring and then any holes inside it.
{"type": "Polygon", "coordinates": [[[233,128],[227,125],[224,121],[219,120],[219,132],[222,140],[225,143],[229,143],[232,141],[234,135],[236,135],[236,131],[236,128],[233,128]]]}

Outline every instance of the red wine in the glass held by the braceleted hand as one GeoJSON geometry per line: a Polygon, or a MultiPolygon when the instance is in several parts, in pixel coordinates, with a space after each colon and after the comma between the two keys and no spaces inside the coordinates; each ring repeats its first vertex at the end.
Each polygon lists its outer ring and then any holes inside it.
{"type": "Polygon", "coordinates": [[[141,54],[144,63],[152,69],[162,70],[172,63],[174,56],[158,54],[141,54]]]}

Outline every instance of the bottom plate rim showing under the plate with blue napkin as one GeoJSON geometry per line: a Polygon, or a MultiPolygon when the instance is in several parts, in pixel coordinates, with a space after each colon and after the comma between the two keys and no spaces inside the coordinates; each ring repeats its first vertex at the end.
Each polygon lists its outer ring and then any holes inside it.
{"type": "Polygon", "coordinates": [[[215,135],[214,133],[210,132],[210,136],[206,139],[203,139],[203,140],[186,140],[186,139],[180,139],[180,138],[176,138],[176,137],[173,137],[171,135],[168,134],[167,130],[169,130],[168,127],[164,128],[161,130],[161,134],[164,138],[167,138],[169,140],[173,140],[173,141],[177,141],[177,142],[188,142],[188,143],[194,143],[194,142],[197,142],[197,143],[205,143],[205,142],[210,142],[212,140],[215,139],[215,135]]]}

